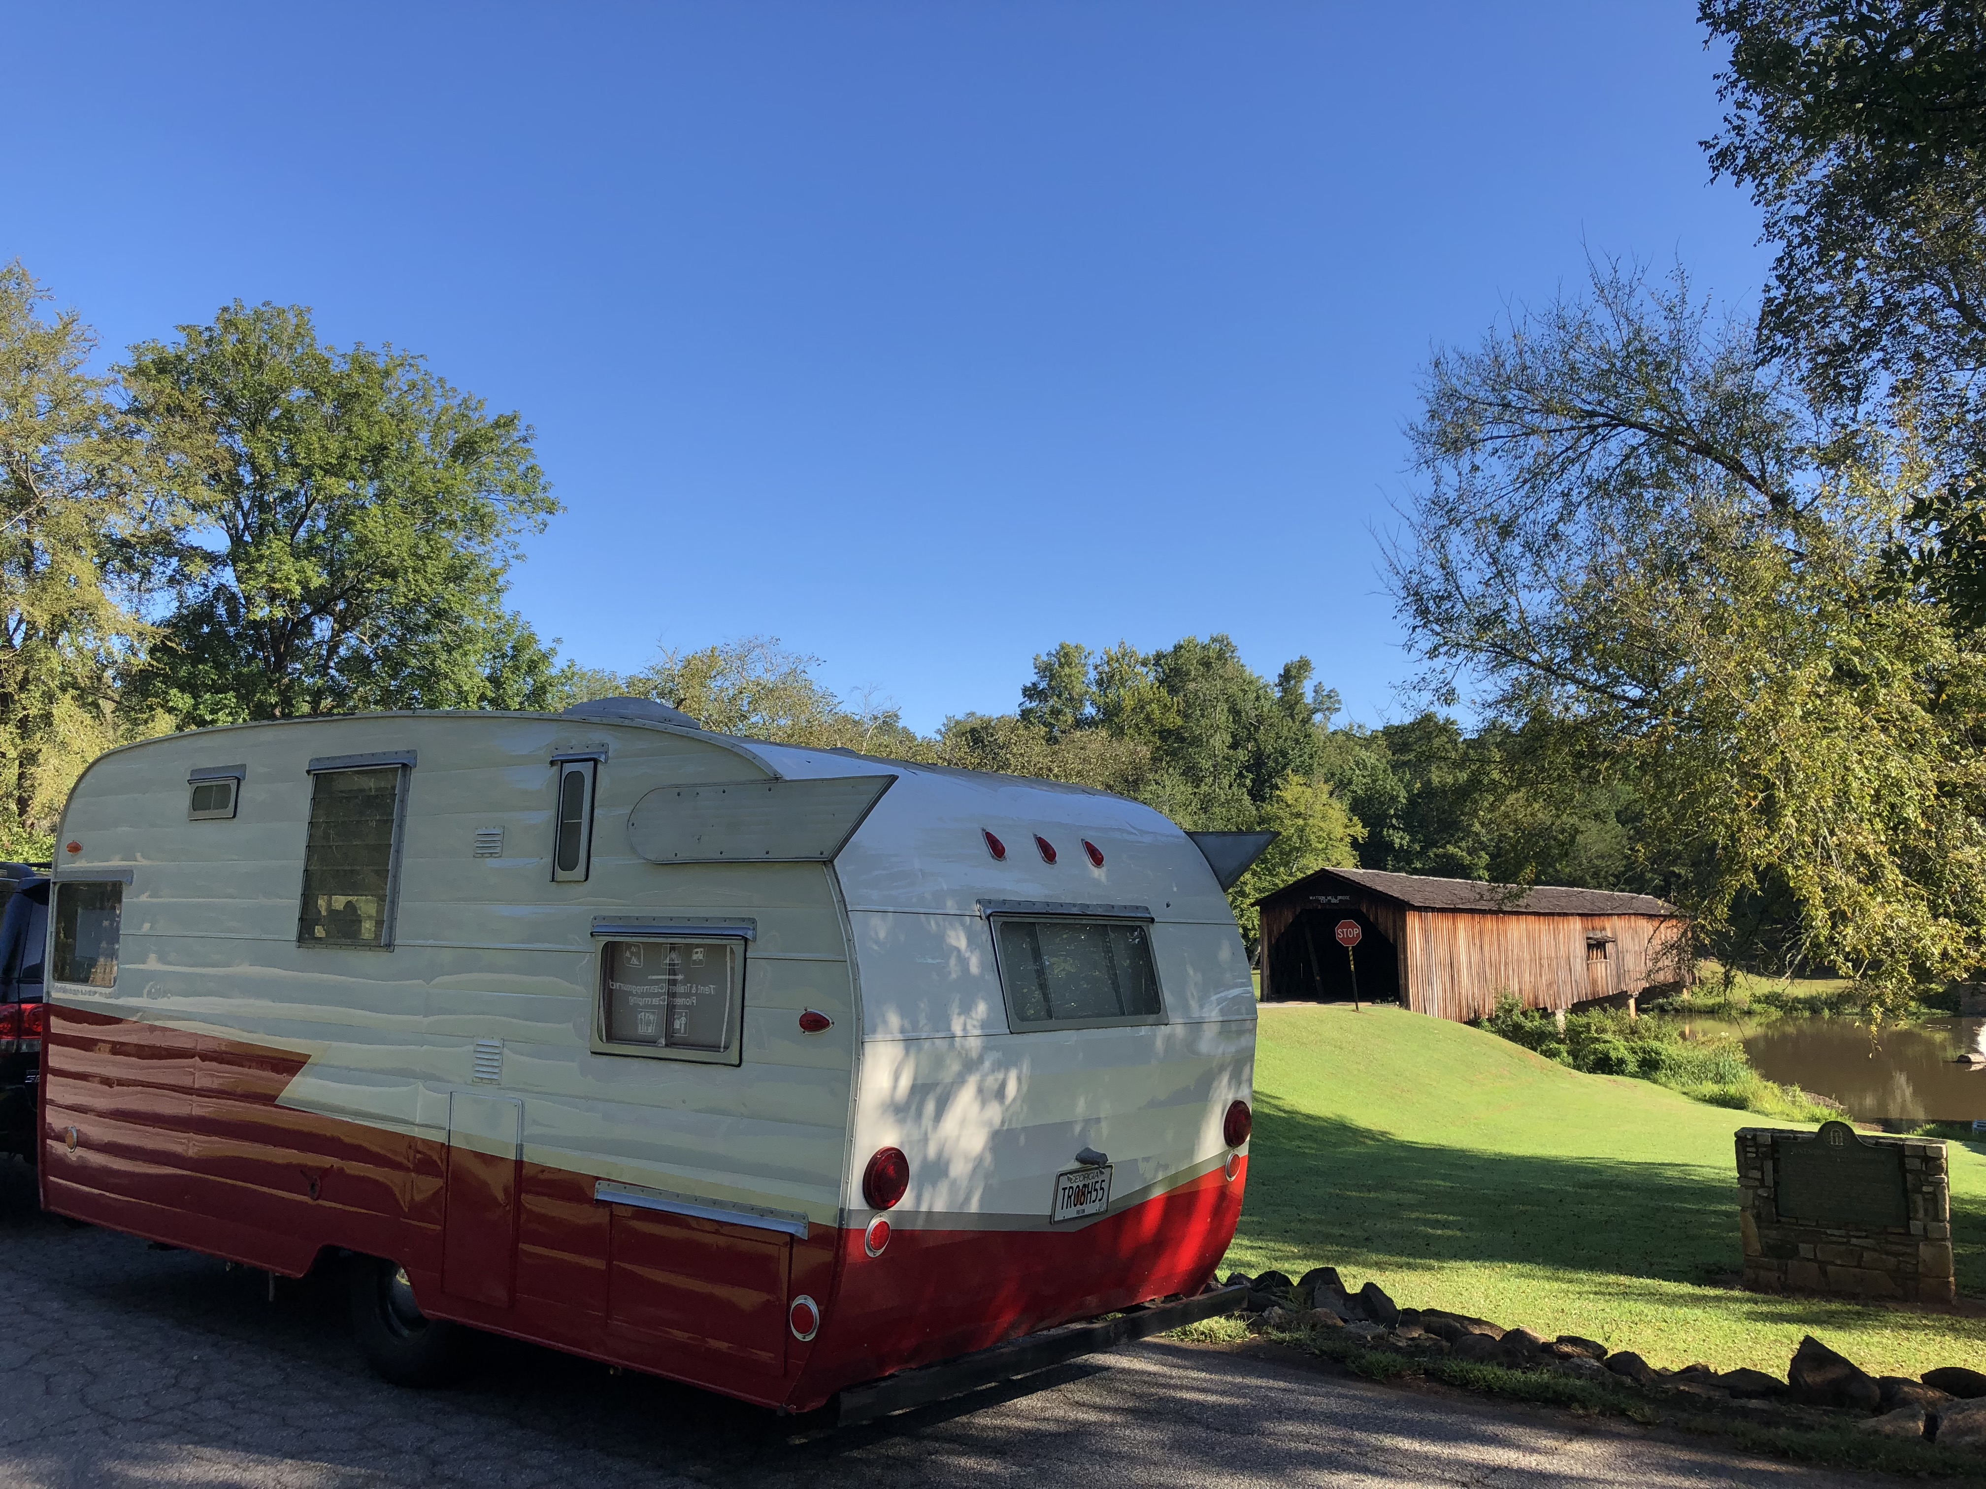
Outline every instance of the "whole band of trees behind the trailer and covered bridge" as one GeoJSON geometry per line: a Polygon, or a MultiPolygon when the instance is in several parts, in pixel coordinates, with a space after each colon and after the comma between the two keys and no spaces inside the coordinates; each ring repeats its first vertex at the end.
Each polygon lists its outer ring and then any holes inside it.
{"type": "Polygon", "coordinates": [[[1756,316],[1595,262],[1426,369],[1386,566],[1426,711],[1337,723],[1225,635],[1063,643],[929,739],[769,639],[560,663],[504,586],[558,512],[514,413],[234,304],[91,371],[0,270],[0,852],[87,758],[377,707],[663,699],[707,727],[1092,784],[1327,864],[1642,889],[1728,965],[1877,1007],[1986,963],[1986,20],[1702,0],[1712,171],[1777,246],[1756,316]],[[1452,713],[1466,705],[1476,723],[1452,713]]]}

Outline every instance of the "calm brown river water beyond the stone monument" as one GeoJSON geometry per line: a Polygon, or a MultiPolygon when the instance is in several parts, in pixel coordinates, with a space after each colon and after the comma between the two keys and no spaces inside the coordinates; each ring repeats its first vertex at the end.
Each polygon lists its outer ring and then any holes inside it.
{"type": "Polygon", "coordinates": [[[1853,1018],[1686,1020],[1692,1038],[1734,1036],[1766,1080],[1841,1102],[1859,1122],[1986,1120],[1986,1018],[1934,1018],[1881,1034],[1853,1018]]]}

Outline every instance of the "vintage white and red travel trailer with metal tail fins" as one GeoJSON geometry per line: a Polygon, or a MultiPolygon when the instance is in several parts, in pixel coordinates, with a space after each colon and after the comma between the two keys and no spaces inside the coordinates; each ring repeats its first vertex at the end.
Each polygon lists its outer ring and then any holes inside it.
{"type": "Polygon", "coordinates": [[[56,840],[42,1199],[350,1257],[409,1384],[469,1324],[790,1412],[945,1394],[1233,1306],[1247,856],[634,699],[145,741],[56,840]]]}

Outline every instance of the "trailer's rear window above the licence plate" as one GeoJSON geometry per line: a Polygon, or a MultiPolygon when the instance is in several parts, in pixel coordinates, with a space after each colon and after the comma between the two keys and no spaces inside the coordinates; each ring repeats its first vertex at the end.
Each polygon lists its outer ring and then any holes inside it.
{"type": "Polygon", "coordinates": [[[1164,1016],[1150,925],[1005,915],[993,925],[1015,1028],[1142,1024],[1164,1016]]]}

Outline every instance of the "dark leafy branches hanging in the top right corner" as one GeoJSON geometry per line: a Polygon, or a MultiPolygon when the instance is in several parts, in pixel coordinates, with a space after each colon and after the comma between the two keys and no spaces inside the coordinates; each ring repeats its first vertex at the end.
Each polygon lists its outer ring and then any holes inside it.
{"type": "Polygon", "coordinates": [[[1712,167],[1779,244],[1760,314],[1853,439],[1922,441],[1918,580],[1986,621],[1986,10],[1970,0],[1702,0],[1732,48],[1712,167]]]}

